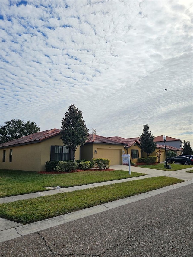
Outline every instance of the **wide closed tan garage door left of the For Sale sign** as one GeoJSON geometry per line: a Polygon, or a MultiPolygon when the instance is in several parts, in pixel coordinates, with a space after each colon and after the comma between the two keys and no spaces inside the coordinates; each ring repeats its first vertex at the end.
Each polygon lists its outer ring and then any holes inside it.
{"type": "Polygon", "coordinates": [[[122,164],[121,149],[97,148],[96,156],[95,158],[109,159],[110,165],[122,164]]]}

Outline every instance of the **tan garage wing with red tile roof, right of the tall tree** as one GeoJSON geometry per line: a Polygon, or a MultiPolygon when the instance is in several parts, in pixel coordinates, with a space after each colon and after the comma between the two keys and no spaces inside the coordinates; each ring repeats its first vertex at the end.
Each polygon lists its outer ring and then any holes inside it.
{"type": "Polygon", "coordinates": [[[122,153],[124,152],[124,142],[110,139],[95,134],[89,135],[84,146],[81,146],[81,160],[91,160],[92,158],[109,159],[110,165],[122,164],[122,153]]]}

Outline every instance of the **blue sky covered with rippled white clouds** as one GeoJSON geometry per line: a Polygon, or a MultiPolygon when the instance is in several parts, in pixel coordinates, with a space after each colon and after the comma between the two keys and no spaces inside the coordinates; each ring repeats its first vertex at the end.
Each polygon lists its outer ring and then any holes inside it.
{"type": "Polygon", "coordinates": [[[0,1],[1,120],[192,143],[192,1],[0,1]],[[163,89],[168,89],[164,91],[163,89]]]}

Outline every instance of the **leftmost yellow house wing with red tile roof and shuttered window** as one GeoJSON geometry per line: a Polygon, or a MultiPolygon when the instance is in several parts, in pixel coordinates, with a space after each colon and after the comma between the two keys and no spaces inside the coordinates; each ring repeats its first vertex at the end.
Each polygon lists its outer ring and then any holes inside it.
{"type": "MultiPolygon", "coordinates": [[[[63,146],[59,129],[51,129],[0,144],[0,168],[44,171],[46,161],[73,160],[69,147],[63,146]]],[[[75,160],[80,159],[80,147],[75,160]]]]}

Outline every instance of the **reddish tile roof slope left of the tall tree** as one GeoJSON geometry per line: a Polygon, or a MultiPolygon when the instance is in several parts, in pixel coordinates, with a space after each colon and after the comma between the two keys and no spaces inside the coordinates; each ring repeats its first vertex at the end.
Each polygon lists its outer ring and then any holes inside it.
{"type": "Polygon", "coordinates": [[[4,147],[9,147],[9,146],[15,146],[15,145],[23,145],[23,144],[30,144],[30,143],[37,143],[41,142],[44,139],[47,139],[52,136],[56,136],[60,134],[59,129],[50,129],[50,130],[45,130],[41,132],[37,132],[28,136],[23,136],[5,143],[0,144],[0,148],[4,147]]]}

